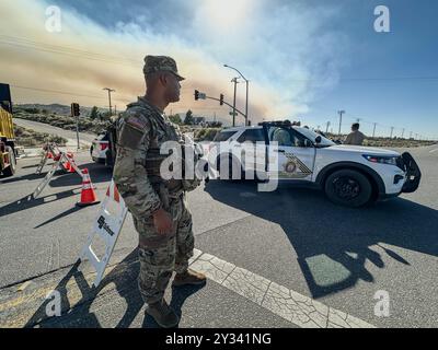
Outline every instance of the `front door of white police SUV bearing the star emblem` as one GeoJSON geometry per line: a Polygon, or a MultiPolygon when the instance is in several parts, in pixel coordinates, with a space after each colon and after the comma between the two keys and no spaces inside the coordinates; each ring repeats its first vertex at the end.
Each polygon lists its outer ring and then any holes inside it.
{"type": "Polygon", "coordinates": [[[278,164],[269,156],[269,176],[279,179],[311,180],[315,148],[306,138],[287,127],[268,127],[269,153],[278,152],[278,164]],[[278,149],[273,147],[278,142],[278,149]],[[274,143],[275,144],[275,143],[274,143]]]}

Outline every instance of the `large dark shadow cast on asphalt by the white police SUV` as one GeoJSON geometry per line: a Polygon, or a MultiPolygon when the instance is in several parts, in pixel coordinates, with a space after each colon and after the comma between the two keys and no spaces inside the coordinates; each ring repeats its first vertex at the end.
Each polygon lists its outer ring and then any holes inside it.
{"type": "Polygon", "coordinates": [[[438,212],[396,198],[371,208],[349,209],[331,203],[315,190],[280,185],[258,192],[252,182],[219,182],[205,190],[218,201],[278,223],[289,238],[313,298],[373,281],[365,264],[384,268],[380,245],[400,264],[410,261],[382,245],[438,256],[438,212]]]}

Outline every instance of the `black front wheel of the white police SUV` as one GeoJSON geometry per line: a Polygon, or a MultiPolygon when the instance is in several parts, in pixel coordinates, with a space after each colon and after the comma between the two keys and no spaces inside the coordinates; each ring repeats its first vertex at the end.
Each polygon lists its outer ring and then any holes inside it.
{"type": "Polygon", "coordinates": [[[325,180],[325,195],[336,205],[358,208],[370,201],[372,186],[361,173],[342,170],[334,172],[325,180]]]}

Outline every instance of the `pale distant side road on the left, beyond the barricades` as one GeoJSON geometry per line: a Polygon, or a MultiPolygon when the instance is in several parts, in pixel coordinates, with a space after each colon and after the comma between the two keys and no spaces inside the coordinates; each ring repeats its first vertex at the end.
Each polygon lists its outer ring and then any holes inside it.
{"type": "MultiPolygon", "coordinates": [[[[48,124],[43,124],[43,122],[37,122],[37,121],[32,121],[32,120],[26,120],[26,119],[20,119],[20,118],[14,118],[13,121],[18,126],[33,129],[37,132],[48,132],[48,133],[60,136],[68,140],[68,142],[67,142],[68,147],[77,147],[78,145],[76,131],[64,130],[61,128],[53,127],[48,124]]],[[[79,143],[81,144],[81,147],[82,145],[90,147],[91,142],[93,142],[94,138],[95,138],[95,135],[88,133],[88,132],[79,132],[79,143]]]]}

